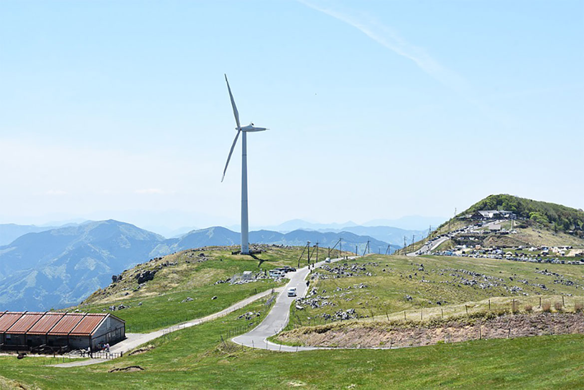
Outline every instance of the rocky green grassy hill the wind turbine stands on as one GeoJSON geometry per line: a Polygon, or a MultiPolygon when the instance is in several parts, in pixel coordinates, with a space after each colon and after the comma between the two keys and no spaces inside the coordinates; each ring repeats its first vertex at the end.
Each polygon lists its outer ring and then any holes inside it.
{"type": "MultiPolygon", "coordinates": [[[[124,271],[106,288],[96,291],[77,307],[65,310],[107,312],[113,306],[116,307],[113,314],[124,319],[127,331],[134,333],[150,332],[201,318],[251,295],[283,285],[271,278],[245,284],[217,283],[218,281],[225,281],[244,271],[263,274],[276,267],[296,267],[303,251],[303,248],[277,245],[255,245],[254,248],[262,250],[262,253],[256,255],[256,259],[251,256],[231,255],[237,249],[235,246],[189,249],[157,257],[124,271]],[[152,280],[139,283],[140,277],[144,278],[152,273],[152,280]],[[117,310],[120,305],[124,308],[117,310]]],[[[335,250],[332,255],[338,256],[339,251],[335,250]]],[[[319,260],[326,256],[328,250],[320,248],[319,260]]],[[[311,250],[311,262],[315,259],[316,253],[311,250]]],[[[306,263],[307,253],[304,253],[300,266],[305,266],[306,263]]]]}

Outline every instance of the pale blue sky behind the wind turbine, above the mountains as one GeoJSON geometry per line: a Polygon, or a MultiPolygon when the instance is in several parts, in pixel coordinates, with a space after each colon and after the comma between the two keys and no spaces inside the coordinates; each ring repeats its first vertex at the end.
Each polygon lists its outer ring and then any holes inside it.
{"type": "Polygon", "coordinates": [[[3,1],[0,222],[584,207],[581,1],[3,1]]]}

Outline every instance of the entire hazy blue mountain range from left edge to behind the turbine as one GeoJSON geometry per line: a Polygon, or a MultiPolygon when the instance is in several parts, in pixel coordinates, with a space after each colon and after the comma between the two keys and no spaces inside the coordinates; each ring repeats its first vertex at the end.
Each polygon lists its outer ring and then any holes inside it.
{"type": "MultiPolygon", "coordinates": [[[[333,246],[359,252],[370,241],[371,252],[385,252],[388,243],[353,232],[295,230],[252,231],[252,243],[333,246]]],[[[48,310],[77,304],[110,283],[113,274],[152,257],[208,245],[237,245],[239,233],[223,227],[191,231],[165,239],[114,220],[91,221],[46,231],[29,232],[0,246],[0,309],[48,310]]],[[[398,249],[391,245],[391,252],[398,249]]]]}

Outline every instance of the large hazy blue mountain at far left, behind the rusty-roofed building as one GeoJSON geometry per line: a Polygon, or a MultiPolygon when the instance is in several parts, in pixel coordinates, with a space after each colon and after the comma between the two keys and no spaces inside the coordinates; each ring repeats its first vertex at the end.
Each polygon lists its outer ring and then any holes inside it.
{"type": "Polygon", "coordinates": [[[0,308],[65,307],[148,259],[162,236],[118,221],[20,236],[0,247],[0,308]]]}

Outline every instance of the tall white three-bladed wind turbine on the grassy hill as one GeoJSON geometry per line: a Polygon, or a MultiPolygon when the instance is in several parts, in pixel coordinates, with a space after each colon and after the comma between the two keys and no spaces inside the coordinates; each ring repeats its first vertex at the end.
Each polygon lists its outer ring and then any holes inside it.
{"type": "Polygon", "coordinates": [[[249,255],[249,227],[248,227],[248,152],[247,152],[247,139],[246,133],[248,131],[264,131],[267,130],[265,127],[255,127],[253,123],[249,123],[248,126],[241,127],[239,124],[239,113],[237,112],[237,107],[235,107],[235,100],[231,93],[231,88],[229,86],[229,81],[227,81],[227,75],[225,75],[225,82],[227,83],[227,89],[229,90],[229,97],[231,99],[231,106],[233,107],[233,114],[235,116],[235,124],[237,127],[237,134],[235,134],[235,140],[231,145],[231,150],[227,156],[227,162],[225,163],[225,169],[223,169],[223,177],[221,177],[221,182],[225,179],[225,172],[227,172],[227,166],[231,159],[231,154],[237,144],[237,138],[239,133],[241,135],[241,254],[249,255]]]}

